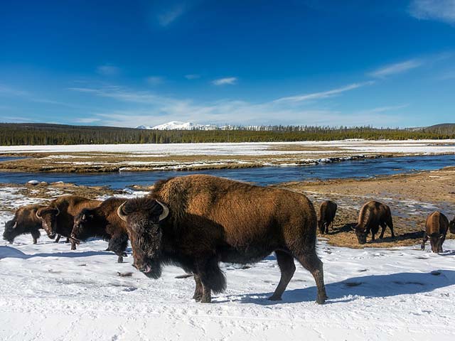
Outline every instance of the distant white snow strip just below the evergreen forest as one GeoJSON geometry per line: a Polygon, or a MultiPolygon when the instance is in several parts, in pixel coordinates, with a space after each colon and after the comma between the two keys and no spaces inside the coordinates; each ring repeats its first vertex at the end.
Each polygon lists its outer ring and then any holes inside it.
{"type": "Polygon", "coordinates": [[[299,153],[455,153],[455,140],[304,141],[242,144],[105,144],[77,146],[0,146],[1,153],[132,153],[161,155],[282,155],[299,153]],[[320,150],[312,150],[314,148],[320,150]],[[339,148],[333,150],[333,148],[339,148]]]}

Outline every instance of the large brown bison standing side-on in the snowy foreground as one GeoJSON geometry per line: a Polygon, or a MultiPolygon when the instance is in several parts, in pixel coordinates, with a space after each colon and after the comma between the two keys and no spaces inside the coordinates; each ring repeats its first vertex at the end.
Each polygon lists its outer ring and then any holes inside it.
{"type": "Polygon", "coordinates": [[[280,300],[294,275],[294,258],[311,272],[318,303],[326,301],[323,265],[316,255],[316,212],[307,197],[210,175],[156,183],[149,197],[118,209],[127,222],[134,266],[159,278],[164,264],[193,273],[196,301],[225,290],[220,261],[247,264],[273,251],[282,273],[270,300],[280,300]]]}

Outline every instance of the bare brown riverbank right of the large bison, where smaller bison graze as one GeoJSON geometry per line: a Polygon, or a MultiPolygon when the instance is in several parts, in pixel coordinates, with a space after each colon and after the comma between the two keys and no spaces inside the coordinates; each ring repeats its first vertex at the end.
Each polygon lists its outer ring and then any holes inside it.
{"type": "MultiPolygon", "coordinates": [[[[323,200],[333,200],[338,211],[326,238],[341,247],[400,247],[422,242],[424,222],[429,213],[440,210],[449,220],[455,214],[455,167],[414,174],[397,174],[370,179],[336,179],[316,182],[286,183],[279,187],[307,195],[316,210],[323,200]],[[358,219],[360,207],[369,200],[390,206],[396,238],[386,229],[385,238],[359,245],[351,227],[358,219]]],[[[455,239],[448,232],[447,239],[455,239]]]]}

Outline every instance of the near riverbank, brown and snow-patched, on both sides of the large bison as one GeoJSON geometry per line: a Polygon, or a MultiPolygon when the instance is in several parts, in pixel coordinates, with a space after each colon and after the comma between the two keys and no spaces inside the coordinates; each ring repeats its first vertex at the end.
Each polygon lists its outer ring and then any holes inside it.
{"type": "MultiPolygon", "coordinates": [[[[449,219],[455,214],[455,167],[368,179],[301,181],[276,186],[304,193],[314,202],[316,211],[323,200],[337,202],[338,212],[333,227],[328,234],[319,235],[319,238],[340,247],[388,248],[416,245],[422,242],[424,222],[430,212],[441,210],[449,219]],[[360,207],[369,200],[378,200],[390,206],[397,236],[395,239],[390,238],[390,230],[387,229],[384,239],[377,239],[362,246],[358,244],[351,227],[357,221],[360,207]]],[[[136,187],[133,190],[145,194],[149,188],[136,187]]],[[[2,195],[0,210],[11,213],[19,203],[25,205],[26,202],[47,202],[63,194],[99,198],[131,194],[133,190],[113,190],[105,186],[78,186],[68,183],[0,184],[0,191],[9,193],[2,195]],[[17,200],[17,196],[22,199],[17,200]]],[[[455,235],[449,233],[447,238],[453,239],[455,235]]]]}

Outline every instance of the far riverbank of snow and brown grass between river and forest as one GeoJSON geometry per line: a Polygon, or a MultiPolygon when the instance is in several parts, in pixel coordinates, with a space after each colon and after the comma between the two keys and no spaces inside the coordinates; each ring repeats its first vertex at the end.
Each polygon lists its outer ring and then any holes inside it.
{"type": "Polygon", "coordinates": [[[118,173],[299,166],[388,156],[455,154],[455,140],[245,144],[0,146],[3,172],[118,173]]]}

